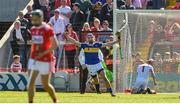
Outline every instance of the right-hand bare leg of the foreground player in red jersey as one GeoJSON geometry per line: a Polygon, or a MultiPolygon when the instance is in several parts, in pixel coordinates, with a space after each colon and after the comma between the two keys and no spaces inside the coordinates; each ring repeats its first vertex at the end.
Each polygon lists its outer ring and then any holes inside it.
{"type": "Polygon", "coordinates": [[[57,103],[57,97],[55,95],[55,89],[50,83],[51,73],[41,75],[41,82],[44,87],[44,90],[47,91],[50,97],[53,99],[54,103],[57,103]]]}

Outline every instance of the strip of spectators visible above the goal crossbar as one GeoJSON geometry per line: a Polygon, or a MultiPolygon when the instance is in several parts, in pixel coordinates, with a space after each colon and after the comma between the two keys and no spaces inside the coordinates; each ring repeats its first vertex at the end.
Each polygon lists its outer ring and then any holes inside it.
{"type": "Polygon", "coordinates": [[[117,0],[119,9],[179,10],[180,0],[117,0]]]}

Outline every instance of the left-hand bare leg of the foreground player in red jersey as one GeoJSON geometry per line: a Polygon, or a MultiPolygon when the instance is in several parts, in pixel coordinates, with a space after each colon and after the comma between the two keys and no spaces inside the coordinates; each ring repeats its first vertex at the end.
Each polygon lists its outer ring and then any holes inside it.
{"type": "Polygon", "coordinates": [[[29,103],[33,103],[33,98],[34,98],[34,93],[35,93],[35,81],[36,78],[39,74],[38,71],[36,70],[29,70],[29,81],[28,81],[28,85],[27,85],[27,89],[28,89],[28,101],[29,103]]]}

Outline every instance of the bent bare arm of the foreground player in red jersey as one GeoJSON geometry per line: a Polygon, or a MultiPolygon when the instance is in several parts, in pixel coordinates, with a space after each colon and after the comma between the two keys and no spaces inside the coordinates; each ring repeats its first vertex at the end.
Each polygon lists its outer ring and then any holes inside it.
{"type": "Polygon", "coordinates": [[[53,52],[53,50],[55,50],[58,47],[58,41],[57,41],[56,37],[53,36],[50,38],[50,40],[52,42],[51,48],[49,48],[48,50],[46,50],[44,52],[38,53],[37,57],[36,57],[37,59],[43,57],[44,55],[46,55],[48,53],[53,52]]]}

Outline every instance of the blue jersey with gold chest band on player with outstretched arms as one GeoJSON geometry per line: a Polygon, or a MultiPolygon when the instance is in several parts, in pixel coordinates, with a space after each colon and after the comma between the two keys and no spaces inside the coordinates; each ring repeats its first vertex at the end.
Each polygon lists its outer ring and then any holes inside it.
{"type": "Polygon", "coordinates": [[[102,43],[82,43],[81,48],[84,49],[85,54],[85,64],[94,65],[101,61],[100,57],[100,48],[102,47],[102,43]]]}

